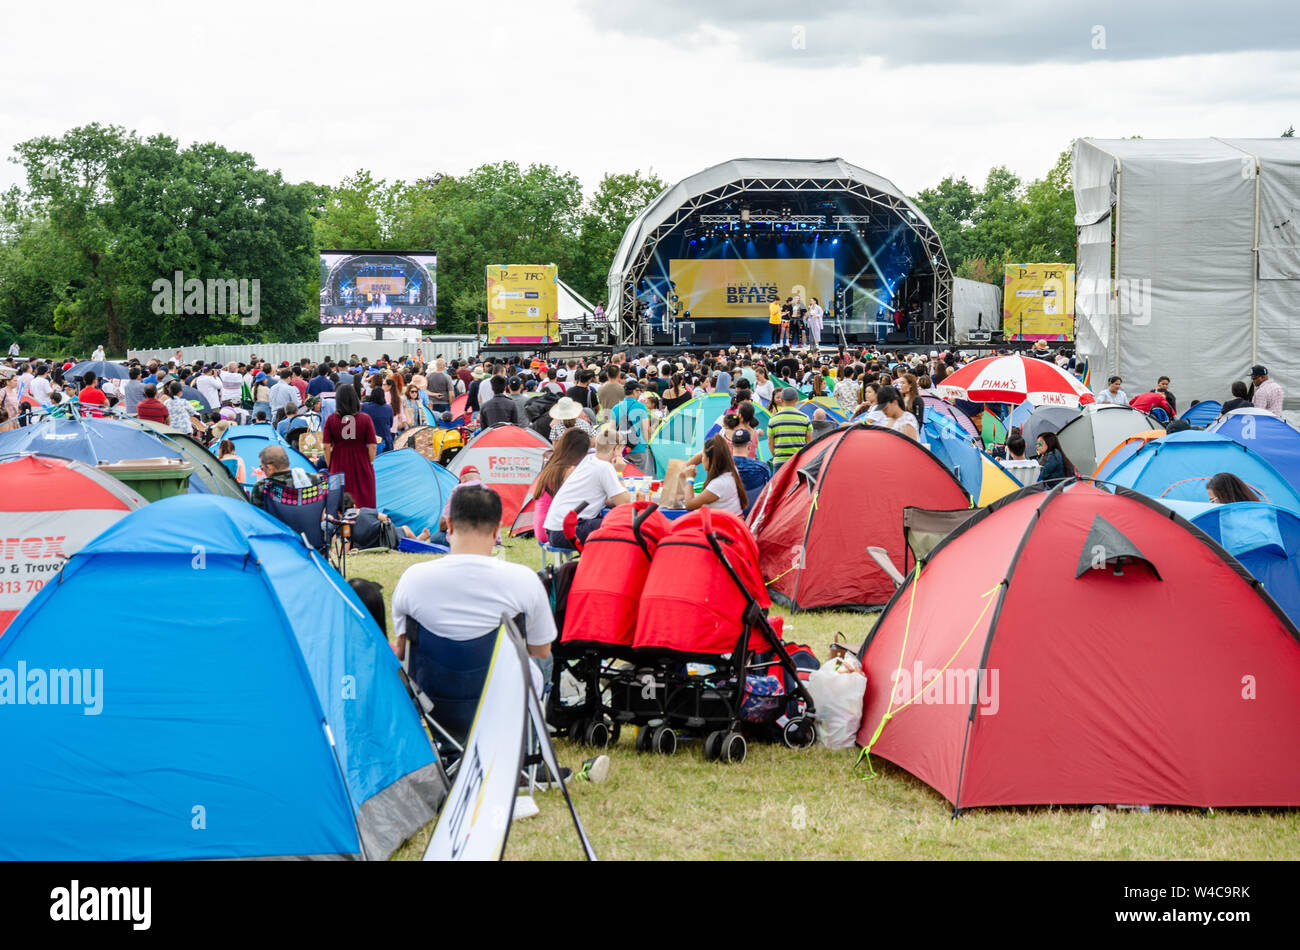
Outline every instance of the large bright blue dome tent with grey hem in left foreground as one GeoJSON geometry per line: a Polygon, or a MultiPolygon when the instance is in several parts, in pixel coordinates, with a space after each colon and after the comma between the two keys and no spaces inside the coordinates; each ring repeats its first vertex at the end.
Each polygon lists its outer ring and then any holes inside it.
{"type": "Polygon", "coordinates": [[[244,502],[107,529],[0,637],[20,664],[52,672],[4,707],[0,859],[384,859],[446,790],[374,620],[244,502]]]}

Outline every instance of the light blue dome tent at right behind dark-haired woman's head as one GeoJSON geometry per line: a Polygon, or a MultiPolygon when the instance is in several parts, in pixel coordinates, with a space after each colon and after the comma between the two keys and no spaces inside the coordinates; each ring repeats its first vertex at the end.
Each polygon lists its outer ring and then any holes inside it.
{"type": "Polygon", "coordinates": [[[1108,482],[1161,502],[1206,502],[1205,483],[1219,472],[1230,472],[1269,504],[1300,512],[1300,491],[1261,456],[1218,433],[1191,429],[1149,439],[1119,464],[1105,468],[1108,482]]]}

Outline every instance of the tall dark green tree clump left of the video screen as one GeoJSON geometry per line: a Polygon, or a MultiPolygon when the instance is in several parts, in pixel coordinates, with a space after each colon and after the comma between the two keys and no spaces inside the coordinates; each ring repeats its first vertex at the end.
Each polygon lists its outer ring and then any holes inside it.
{"type": "MultiPolygon", "coordinates": [[[[291,339],[313,312],[316,244],[311,185],[286,185],[252,156],[216,144],[179,149],[98,125],[17,147],[26,188],[0,208],[0,322],[65,333],[77,347],[173,346],[234,334],[291,339]],[[155,308],[157,281],[259,285],[260,321],[238,299],[203,313],[155,308]],[[155,312],[164,309],[165,312],[155,312]]],[[[251,295],[244,299],[251,304],[251,295]]]]}

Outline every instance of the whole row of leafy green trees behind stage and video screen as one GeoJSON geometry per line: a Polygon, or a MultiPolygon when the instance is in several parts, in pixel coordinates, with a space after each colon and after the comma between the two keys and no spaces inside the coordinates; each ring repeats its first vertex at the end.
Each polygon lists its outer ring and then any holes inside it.
{"type": "MultiPolygon", "coordinates": [[[[586,196],[572,173],[511,161],[292,183],[244,152],[98,123],[23,142],[12,161],[25,182],[0,196],[0,339],[43,352],[315,339],[318,251],[332,247],[434,250],[439,333],[474,330],[489,264],[554,263],[603,300],[623,231],[664,188],[637,170],[586,196]],[[178,272],[257,279],[259,321],[165,305],[155,285],[178,272]]],[[[1008,261],[1074,260],[1070,149],[1041,179],[998,166],[982,187],[948,177],[914,200],[961,277],[1001,283],[1008,261]]]]}

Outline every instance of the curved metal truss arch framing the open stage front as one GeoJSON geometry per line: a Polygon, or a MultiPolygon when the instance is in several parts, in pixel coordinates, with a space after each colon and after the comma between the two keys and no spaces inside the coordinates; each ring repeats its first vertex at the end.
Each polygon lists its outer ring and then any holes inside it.
{"type": "MultiPolygon", "coordinates": [[[[655,247],[679,227],[684,226],[692,217],[699,214],[705,208],[714,207],[723,201],[742,199],[748,195],[780,195],[780,194],[836,194],[852,195],[861,201],[866,201],[872,208],[879,208],[892,213],[916,235],[933,270],[933,292],[931,295],[932,312],[935,315],[935,343],[949,343],[952,337],[953,312],[953,270],[948,264],[948,255],[944,246],[931,227],[926,226],[907,205],[905,199],[871,188],[852,178],[737,178],[727,182],[722,187],[705,191],[694,198],[686,199],[672,214],[658,227],[645,237],[630,264],[620,274],[619,281],[619,342],[621,344],[634,344],[638,339],[638,326],[641,324],[640,308],[637,307],[637,287],[646,276],[654,260],[655,247]]],[[[699,224],[731,224],[748,221],[751,224],[800,224],[812,225],[816,230],[844,231],[853,230],[854,225],[870,221],[866,214],[833,214],[832,222],[827,225],[828,216],[771,216],[755,214],[742,217],[737,213],[728,214],[699,214],[699,224]]]]}

